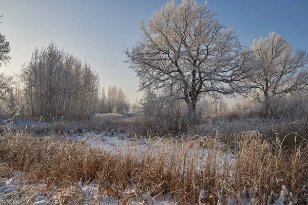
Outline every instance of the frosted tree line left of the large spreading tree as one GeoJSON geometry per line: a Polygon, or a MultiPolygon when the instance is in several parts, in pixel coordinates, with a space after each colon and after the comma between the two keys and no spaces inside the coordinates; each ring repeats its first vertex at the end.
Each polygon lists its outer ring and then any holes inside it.
{"type": "MultiPolygon", "coordinates": [[[[10,50],[0,33],[0,67],[9,63],[10,50]]],[[[45,121],[88,121],[95,112],[125,114],[130,106],[121,87],[110,86],[107,94],[104,88],[100,93],[99,74],[89,62],[82,62],[53,42],[35,48],[15,78],[0,73],[0,100],[0,117],[11,113],[42,116],[45,121]]]]}

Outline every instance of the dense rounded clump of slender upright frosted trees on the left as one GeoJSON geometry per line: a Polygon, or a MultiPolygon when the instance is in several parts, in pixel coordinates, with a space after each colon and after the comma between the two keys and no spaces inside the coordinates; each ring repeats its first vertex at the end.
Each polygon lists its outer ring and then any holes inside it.
{"type": "Polygon", "coordinates": [[[21,70],[20,83],[30,116],[87,121],[96,110],[98,73],[54,43],[34,50],[21,70]]]}

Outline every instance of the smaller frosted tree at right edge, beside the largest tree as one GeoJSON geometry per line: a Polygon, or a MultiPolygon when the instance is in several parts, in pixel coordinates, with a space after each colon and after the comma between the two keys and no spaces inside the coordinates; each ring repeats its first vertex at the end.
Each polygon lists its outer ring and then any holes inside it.
{"type": "MultiPolygon", "coordinates": [[[[302,91],[308,86],[308,55],[292,48],[286,38],[276,32],[254,40],[254,71],[248,78],[248,96],[264,104],[264,113],[271,115],[271,100],[277,96],[302,91]]],[[[246,95],[246,96],[247,96],[246,95]]]]}

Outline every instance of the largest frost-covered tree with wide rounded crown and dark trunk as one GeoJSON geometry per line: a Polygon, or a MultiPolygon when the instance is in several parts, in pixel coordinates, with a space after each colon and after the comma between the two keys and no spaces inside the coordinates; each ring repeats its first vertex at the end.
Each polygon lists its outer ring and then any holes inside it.
{"type": "Polygon", "coordinates": [[[137,45],[124,50],[140,79],[140,90],[151,87],[180,94],[192,114],[201,94],[235,93],[236,83],[247,74],[249,50],[206,3],[171,1],[147,24],[142,19],[140,31],[137,45]]]}

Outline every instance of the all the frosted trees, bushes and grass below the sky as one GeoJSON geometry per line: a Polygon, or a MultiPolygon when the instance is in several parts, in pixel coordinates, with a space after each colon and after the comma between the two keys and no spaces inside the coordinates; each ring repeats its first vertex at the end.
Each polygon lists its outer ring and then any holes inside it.
{"type": "Polygon", "coordinates": [[[134,104],[53,42],[0,73],[0,203],[308,204],[306,51],[276,32],[248,48],[194,0],[139,28],[134,104]]]}

